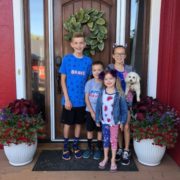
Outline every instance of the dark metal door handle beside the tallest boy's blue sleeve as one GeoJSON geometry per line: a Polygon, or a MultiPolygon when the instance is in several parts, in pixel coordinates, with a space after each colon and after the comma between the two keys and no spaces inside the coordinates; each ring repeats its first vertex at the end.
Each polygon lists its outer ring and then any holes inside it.
{"type": "Polygon", "coordinates": [[[61,94],[61,74],[59,73],[59,67],[61,66],[62,63],[62,57],[61,56],[56,56],[55,57],[55,64],[56,64],[56,82],[57,82],[57,93],[61,94]]]}

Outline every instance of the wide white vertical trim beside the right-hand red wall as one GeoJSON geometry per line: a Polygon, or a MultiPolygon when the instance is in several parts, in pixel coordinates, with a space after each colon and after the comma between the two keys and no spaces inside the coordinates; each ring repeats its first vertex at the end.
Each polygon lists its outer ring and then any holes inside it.
{"type": "Polygon", "coordinates": [[[151,0],[147,94],[156,97],[161,0],[151,0]]]}

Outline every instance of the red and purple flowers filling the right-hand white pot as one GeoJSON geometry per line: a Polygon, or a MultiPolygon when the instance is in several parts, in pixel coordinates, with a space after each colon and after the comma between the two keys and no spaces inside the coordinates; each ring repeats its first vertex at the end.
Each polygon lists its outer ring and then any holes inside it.
{"type": "Polygon", "coordinates": [[[141,99],[131,110],[131,131],[136,140],[153,139],[155,145],[173,147],[180,129],[179,113],[152,97],[141,99]]]}

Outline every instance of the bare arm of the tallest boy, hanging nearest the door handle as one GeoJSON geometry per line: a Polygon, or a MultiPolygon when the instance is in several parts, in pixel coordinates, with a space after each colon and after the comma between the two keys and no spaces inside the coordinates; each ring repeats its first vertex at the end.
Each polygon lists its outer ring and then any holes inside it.
{"type": "Polygon", "coordinates": [[[65,108],[67,110],[71,110],[72,104],[71,104],[71,101],[69,99],[69,95],[68,95],[68,92],[67,92],[66,75],[65,74],[61,74],[61,86],[62,86],[62,90],[63,90],[63,93],[64,93],[64,98],[65,98],[65,108]]]}

